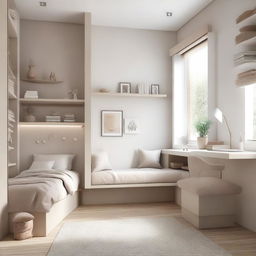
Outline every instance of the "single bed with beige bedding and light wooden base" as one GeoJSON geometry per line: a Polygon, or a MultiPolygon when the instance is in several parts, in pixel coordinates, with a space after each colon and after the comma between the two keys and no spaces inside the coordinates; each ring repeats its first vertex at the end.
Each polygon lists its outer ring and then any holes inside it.
{"type": "Polygon", "coordinates": [[[78,206],[79,175],[67,169],[71,169],[73,158],[60,155],[44,157],[47,160],[38,161],[38,156],[34,156],[28,170],[8,181],[11,231],[14,214],[29,212],[35,217],[33,235],[47,236],[78,206]],[[56,161],[51,158],[56,158],[56,161]]]}

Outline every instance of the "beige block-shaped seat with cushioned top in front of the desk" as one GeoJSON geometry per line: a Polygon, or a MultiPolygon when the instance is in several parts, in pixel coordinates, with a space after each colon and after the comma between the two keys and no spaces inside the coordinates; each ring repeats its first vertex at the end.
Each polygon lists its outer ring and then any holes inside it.
{"type": "Polygon", "coordinates": [[[178,181],[182,216],[195,227],[219,228],[234,225],[235,198],[241,188],[213,177],[193,177],[178,181]]]}

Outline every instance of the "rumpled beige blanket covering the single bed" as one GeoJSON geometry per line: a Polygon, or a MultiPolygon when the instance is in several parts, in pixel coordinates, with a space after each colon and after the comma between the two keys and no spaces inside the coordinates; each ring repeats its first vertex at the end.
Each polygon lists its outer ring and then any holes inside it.
{"type": "Polygon", "coordinates": [[[9,212],[49,212],[52,205],[78,189],[78,174],[26,170],[9,179],[9,212]]]}

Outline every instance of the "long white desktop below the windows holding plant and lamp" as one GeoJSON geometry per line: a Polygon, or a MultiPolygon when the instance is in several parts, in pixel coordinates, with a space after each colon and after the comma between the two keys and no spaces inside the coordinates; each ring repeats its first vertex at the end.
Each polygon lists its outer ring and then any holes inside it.
{"type": "Polygon", "coordinates": [[[190,153],[197,153],[203,157],[212,157],[220,159],[256,159],[256,152],[241,151],[241,152],[228,152],[228,151],[214,151],[202,149],[189,149],[184,151],[182,149],[162,149],[163,154],[185,156],[188,157],[190,153]]]}

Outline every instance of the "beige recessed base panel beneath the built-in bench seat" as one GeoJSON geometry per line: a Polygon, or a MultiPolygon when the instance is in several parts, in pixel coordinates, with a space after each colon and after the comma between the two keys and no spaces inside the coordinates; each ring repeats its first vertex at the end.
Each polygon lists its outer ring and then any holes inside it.
{"type": "Polygon", "coordinates": [[[82,205],[173,202],[174,187],[85,189],[82,205]]]}

